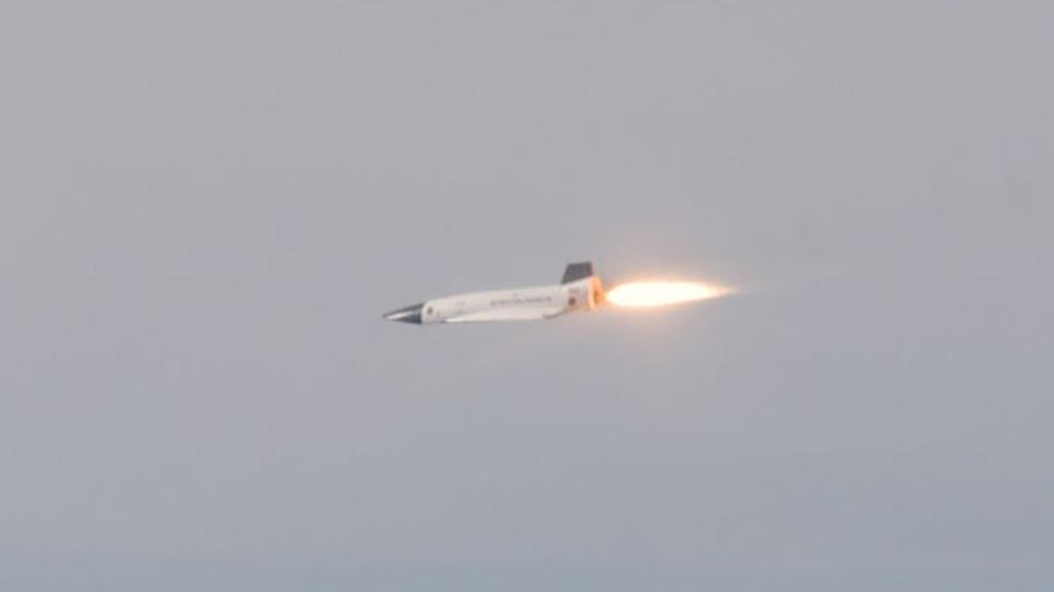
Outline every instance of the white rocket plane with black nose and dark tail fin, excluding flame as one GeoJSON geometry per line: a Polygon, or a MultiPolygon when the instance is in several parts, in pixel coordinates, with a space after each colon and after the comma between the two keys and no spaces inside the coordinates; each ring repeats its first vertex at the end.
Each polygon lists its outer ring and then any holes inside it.
{"type": "Polygon", "coordinates": [[[383,318],[416,325],[551,319],[594,310],[605,301],[593,263],[569,263],[559,284],[475,292],[436,298],[392,310],[383,318]]]}

